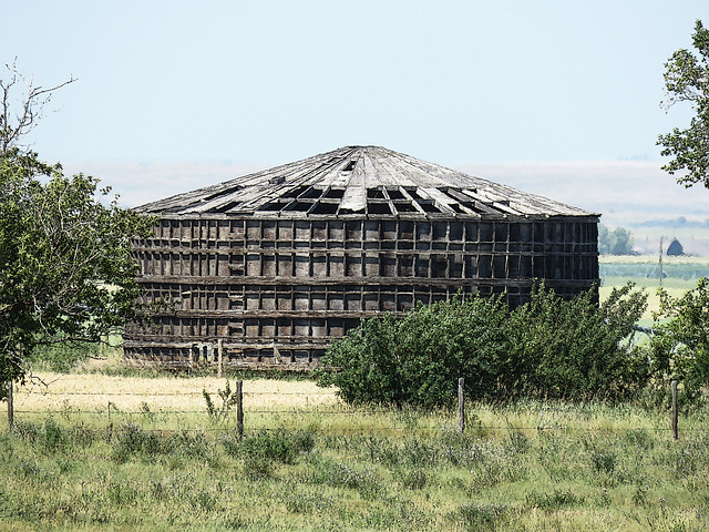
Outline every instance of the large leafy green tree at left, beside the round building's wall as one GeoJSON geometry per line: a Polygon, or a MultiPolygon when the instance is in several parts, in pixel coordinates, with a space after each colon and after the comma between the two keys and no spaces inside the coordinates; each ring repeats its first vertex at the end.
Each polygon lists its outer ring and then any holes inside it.
{"type": "Polygon", "coordinates": [[[39,345],[99,342],[135,316],[131,239],[153,221],[95,196],[37,154],[0,154],[0,381],[22,380],[39,345]]]}

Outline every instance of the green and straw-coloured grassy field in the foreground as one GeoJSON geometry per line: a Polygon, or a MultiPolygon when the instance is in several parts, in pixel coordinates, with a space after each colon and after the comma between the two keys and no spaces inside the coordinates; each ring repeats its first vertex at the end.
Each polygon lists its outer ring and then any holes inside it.
{"type": "Polygon", "coordinates": [[[700,531],[707,407],[361,410],[307,380],[41,374],[0,431],[0,530],[700,531]],[[232,381],[234,389],[234,381],[232,381]]]}

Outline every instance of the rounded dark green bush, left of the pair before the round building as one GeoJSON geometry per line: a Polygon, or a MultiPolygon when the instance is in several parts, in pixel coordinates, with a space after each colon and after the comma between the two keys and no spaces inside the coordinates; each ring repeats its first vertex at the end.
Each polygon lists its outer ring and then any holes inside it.
{"type": "Polygon", "coordinates": [[[321,386],[335,385],[350,403],[435,407],[450,403],[459,377],[467,393],[492,392],[505,349],[506,306],[497,298],[454,298],[419,306],[404,319],[370,318],[335,342],[321,386]]]}

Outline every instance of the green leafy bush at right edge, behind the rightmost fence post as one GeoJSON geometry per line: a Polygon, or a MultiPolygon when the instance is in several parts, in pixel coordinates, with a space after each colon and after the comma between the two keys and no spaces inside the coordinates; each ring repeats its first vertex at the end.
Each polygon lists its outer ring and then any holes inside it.
{"type": "Polygon", "coordinates": [[[660,309],[655,313],[651,341],[653,369],[658,382],[678,379],[696,393],[709,385],[709,279],[681,297],[658,289],[660,309]]]}

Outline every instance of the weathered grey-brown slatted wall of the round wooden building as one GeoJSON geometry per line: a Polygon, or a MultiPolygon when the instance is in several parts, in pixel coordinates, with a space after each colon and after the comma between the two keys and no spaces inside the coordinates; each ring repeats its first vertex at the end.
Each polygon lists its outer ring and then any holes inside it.
{"type": "Polygon", "coordinates": [[[152,325],[129,358],[163,365],[309,367],[379,313],[463,294],[527,299],[533,279],[573,296],[598,282],[597,217],[165,215],[135,243],[152,325]]]}

